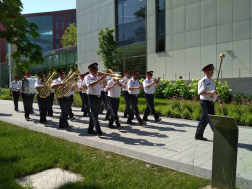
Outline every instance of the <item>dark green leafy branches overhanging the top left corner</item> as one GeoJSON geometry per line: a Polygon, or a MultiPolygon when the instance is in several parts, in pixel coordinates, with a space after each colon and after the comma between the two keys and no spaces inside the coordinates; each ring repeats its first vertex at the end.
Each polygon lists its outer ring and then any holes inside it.
{"type": "Polygon", "coordinates": [[[22,9],[23,4],[20,0],[0,1],[0,23],[5,28],[5,31],[0,31],[0,38],[5,38],[8,43],[16,45],[17,51],[12,53],[15,62],[20,62],[23,55],[28,58],[28,64],[42,64],[44,61],[42,48],[31,43],[27,36],[29,33],[33,38],[39,38],[38,27],[22,16],[22,9]]]}

